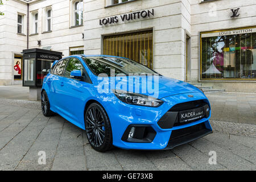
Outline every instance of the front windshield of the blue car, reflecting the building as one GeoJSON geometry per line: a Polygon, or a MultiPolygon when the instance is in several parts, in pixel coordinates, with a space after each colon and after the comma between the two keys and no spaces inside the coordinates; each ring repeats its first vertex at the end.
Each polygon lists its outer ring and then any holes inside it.
{"type": "Polygon", "coordinates": [[[110,76],[113,70],[115,76],[118,74],[156,74],[155,71],[135,61],[119,57],[82,57],[95,75],[105,73],[110,76]]]}

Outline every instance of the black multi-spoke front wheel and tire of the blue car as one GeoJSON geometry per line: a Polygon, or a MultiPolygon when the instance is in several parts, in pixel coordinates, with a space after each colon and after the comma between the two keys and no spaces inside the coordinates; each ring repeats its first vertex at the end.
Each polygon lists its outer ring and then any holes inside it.
{"type": "Polygon", "coordinates": [[[104,108],[94,102],[86,110],[85,131],[94,150],[104,152],[112,149],[113,137],[109,117],[104,108]]]}

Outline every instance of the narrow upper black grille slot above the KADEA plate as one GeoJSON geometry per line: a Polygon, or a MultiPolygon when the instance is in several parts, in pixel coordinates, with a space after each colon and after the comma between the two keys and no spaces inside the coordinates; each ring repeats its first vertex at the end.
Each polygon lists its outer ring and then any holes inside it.
{"type": "Polygon", "coordinates": [[[205,104],[207,104],[207,102],[204,100],[184,102],[173,106],[168,112],[179,112],[183,110],[196,109],[198,107],[204,106],[205,104]]]}

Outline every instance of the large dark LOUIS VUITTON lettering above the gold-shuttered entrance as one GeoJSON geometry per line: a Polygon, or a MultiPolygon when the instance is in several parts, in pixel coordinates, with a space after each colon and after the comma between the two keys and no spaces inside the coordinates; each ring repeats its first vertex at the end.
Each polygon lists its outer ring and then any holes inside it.
{"type": "Polygon", "coordinates": [[[104,26],[107,24],[118,23],[119,21],[125,22],[125,21],[147,18],[147,17],[150,18],[151,16],[154,16],[154,15],[155,15],[154,9],[137,11],[134,13],[128,13],[128,14],[123,14],[119,16],[112,16],[109,18],[100,19],[100,25],[104,26]]]}

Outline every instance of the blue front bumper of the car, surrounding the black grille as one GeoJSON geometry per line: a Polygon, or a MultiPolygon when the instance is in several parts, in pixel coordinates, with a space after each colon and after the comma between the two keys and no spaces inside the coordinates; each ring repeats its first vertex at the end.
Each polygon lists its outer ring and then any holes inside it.
{"type": "Polygon", "coordinates": [[[106,110],[112,124],[113,145],[123,149],[167,150],[212,133],[212,127],[209,123],[210,112],[209,117],[201,118],[195,122],[184,123],[184,125],[173,126],[168,129],[159,126],[158,121],[177,104],[204,100],[210,106],[207,97],[203,93],[193,93],[193,98],[188,97],[189,94],[191,93],[162,98],[164,104],[156,108],[127,105],[119,100],[112,102],[114,104],[109,105],[106,110]],[[154,139],[150,142],[138,143],[123,140],[123,135],[131,125],[151,127],[156,133],[154,139]],[[179,133],[181,133],[181,137],[177,135],[179,133]]]}

